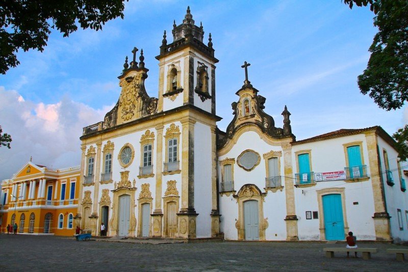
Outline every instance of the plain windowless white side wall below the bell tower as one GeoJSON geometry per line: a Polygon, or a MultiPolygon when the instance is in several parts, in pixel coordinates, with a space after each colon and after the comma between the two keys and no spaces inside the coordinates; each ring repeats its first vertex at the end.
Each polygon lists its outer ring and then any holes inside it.
{"type": "Polygon", "coordinates": [[[197,238],[211,237],[212,208],[212,148],[210,126],[194,124],[194,207],[199,214],[197,238]]]}

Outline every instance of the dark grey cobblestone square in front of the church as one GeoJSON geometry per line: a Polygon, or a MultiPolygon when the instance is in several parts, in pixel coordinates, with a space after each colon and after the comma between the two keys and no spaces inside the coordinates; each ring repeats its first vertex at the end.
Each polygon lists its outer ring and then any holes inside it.
{"type": "MultiPolygon", "coordinates": [[[[145,241],[145,240],[144,240],[145,241]]],[[[32,235],[0,235],[1,271],[403,271],[408,261],[396,261],[385,243],[359,243],[377,248],[371,260],[346,258],[337,253],[328,259],[324,247],[344,243],[319,242],[222,242],[146,244],[75,241],[74,238],[32,235]]],[[[351,254],[350,254],[351,255],[351,254]]],[[[408,259],[408,256],[405,257],[408,259]]]]}

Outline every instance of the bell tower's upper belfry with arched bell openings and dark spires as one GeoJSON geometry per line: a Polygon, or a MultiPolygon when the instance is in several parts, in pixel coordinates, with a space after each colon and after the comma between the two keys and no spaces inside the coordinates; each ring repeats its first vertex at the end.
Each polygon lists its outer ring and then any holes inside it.
{"type": "Polygon", "coordinates": [[[158,112],[183,105],[194,105],[215,115],[214,49],[209,34],[203,43],[202,23],[195,25],[190,7],[181,24],[173,22],[173,41],[167,43],[164,31],[159,60],[158,112]]]}

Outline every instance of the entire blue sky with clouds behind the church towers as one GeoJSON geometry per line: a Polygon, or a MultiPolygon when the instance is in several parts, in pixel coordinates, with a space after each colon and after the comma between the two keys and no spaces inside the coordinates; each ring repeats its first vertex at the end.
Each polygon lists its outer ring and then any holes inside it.
{"type": "Polygon", "coordinates": [[[0,75],[0,125],[13,138],[0,150],[0,180],[33,162],[60,168],[80,164],[82,127],[96,123],[116,103],[117,76],[134,46],[149,69],[146,89],[158,95],[159,46],[171,42],[190,5],[205,40],[211,32],[216,65],[218,123],[232,120],[231,103],[241,88],[244,61],[265,112],[283,126],[291,112],[297,140],[340,128],[382,126],[389,134],[408,123],[408,108],[381,110],[360,93],[356,78],[366,68],[376,33],[368,8],[350,10],[336,1],[134,1],[124,19],[103,31],[79,30],[68,38],[53,31],[43,52],[19,51],[21,62],[0,75]],[[140,52],[140,51],[139,51],[140,52]]]}

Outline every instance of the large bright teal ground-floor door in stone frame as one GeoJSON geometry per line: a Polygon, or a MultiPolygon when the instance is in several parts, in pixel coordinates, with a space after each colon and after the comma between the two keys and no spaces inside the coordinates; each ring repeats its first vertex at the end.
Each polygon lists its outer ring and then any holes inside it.
{"type": "Polygon", "coordinates": [[[323,196],[323,215],[326,240],[344,240],[344,222],[341,196],[323,196]]]}

